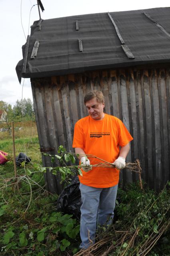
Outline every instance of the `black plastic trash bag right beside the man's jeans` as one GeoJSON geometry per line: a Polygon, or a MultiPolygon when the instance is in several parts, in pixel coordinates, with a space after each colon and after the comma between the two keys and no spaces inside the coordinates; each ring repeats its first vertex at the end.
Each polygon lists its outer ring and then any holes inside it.
{"type": "Polygon", "coordinates": [[[78,220],[80,220],[80,207],[82,205],[79,185],[80,181],[76,176],[71,184],[63,189],[57,200],[57,211],[64,214],[72,214],[78,220]]]}

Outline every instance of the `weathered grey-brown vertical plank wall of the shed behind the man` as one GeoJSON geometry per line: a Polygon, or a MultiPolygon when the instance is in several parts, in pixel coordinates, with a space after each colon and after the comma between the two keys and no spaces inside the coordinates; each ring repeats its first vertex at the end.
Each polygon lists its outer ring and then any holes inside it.
{"type": "MultiPolygon", "coordinates": [[[[170,180],[170,68],[116,69],[89,71],[50,78],[31,79],[36,123],[41,148],[59,145],[72,149],[74,124],[88,115],[84,95],[101,90],[105,112],[120,118],[134,140],[127,161],[138,158],[142,178],[159,190],[170,180]]],[[[44,166],[50,159],[42,156],[44,166]]],[[[54,163],[55,165],[55,163],[54,163]]],[[[121,171],[120,183],[136,181],[129,171],[121,171]]],[[[60,193],[60,180],[50,173],[46,188],[60,193]]]]}

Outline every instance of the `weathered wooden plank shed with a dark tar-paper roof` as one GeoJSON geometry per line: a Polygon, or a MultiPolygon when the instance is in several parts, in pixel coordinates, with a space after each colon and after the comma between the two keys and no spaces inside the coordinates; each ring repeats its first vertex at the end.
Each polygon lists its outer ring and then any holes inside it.
{"type": "MultiPolygon", "coordinates": [[[[74,124],[88,113],[84,95],[104,93],[105,111],[120,118],[134,140],[142,178],[161,189],[170,179],[170,8],[86,14],[35,21],[16,66],[30,77],[41,150],[72,152],[74,124]]],[[[42,156],[46,167],[52,165],[42,156]]],[[[120,183],[137,176],[122,171],[120,183]]],[[[59,193],[58,178],[45,175],[59,193]]]]}

